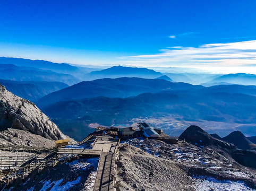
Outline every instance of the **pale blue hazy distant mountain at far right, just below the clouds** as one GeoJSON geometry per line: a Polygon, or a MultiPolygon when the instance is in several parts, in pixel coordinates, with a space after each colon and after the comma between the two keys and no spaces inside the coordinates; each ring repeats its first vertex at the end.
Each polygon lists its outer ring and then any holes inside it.
{"type": "Polygon", "coordinates": [[[245,74],[245,73],[227,74],[227,75],[219,76],[216,79],[209,81],[208,83],[219,83],[219,82],[242,84],[242,85],[256,85],[256,75],[245,74]]]}

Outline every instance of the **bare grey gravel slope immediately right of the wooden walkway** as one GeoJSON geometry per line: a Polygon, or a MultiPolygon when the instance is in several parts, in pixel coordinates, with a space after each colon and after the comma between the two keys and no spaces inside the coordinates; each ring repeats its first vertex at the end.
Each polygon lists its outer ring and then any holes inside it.
{"type": "Polygon", "coordinates": [[[177,163],[134,146],[121,146],[117,190],[195,190],[192,179],[177,163]]]}

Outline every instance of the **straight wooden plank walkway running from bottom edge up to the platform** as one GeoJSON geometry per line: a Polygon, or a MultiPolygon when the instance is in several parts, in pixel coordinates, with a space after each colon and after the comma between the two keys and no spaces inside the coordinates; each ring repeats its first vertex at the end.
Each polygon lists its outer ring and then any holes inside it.
{"type": "Polygon", "coordinates": [[[100,156],[99,167],[93,190],[113,190],[113,172],[115,168],[115,153],[103,152],[100,156]]]}

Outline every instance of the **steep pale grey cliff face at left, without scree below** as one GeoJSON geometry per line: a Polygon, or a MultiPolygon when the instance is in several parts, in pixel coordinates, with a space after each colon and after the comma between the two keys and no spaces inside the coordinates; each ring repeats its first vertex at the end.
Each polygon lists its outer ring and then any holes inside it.
{"type": "Polygon", "coordinates": [[[0,84],[0,132],[8,128],[28,131],[49,140],[66,138],[34,103],[12,94],[0,84]]]}

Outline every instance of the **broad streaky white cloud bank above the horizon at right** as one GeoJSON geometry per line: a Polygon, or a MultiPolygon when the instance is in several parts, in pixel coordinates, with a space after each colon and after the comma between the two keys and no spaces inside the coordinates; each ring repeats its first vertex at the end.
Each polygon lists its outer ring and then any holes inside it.
{"type": "MultiPolygon", "coordinates": [[[[121,57],[122,62],[140,66],[234,67],[255,66],[256,40],[199,47],[168,47],[159,54],[121,57]]],[[[254,68],[256,72],[256,68],[254,68]]]]}

